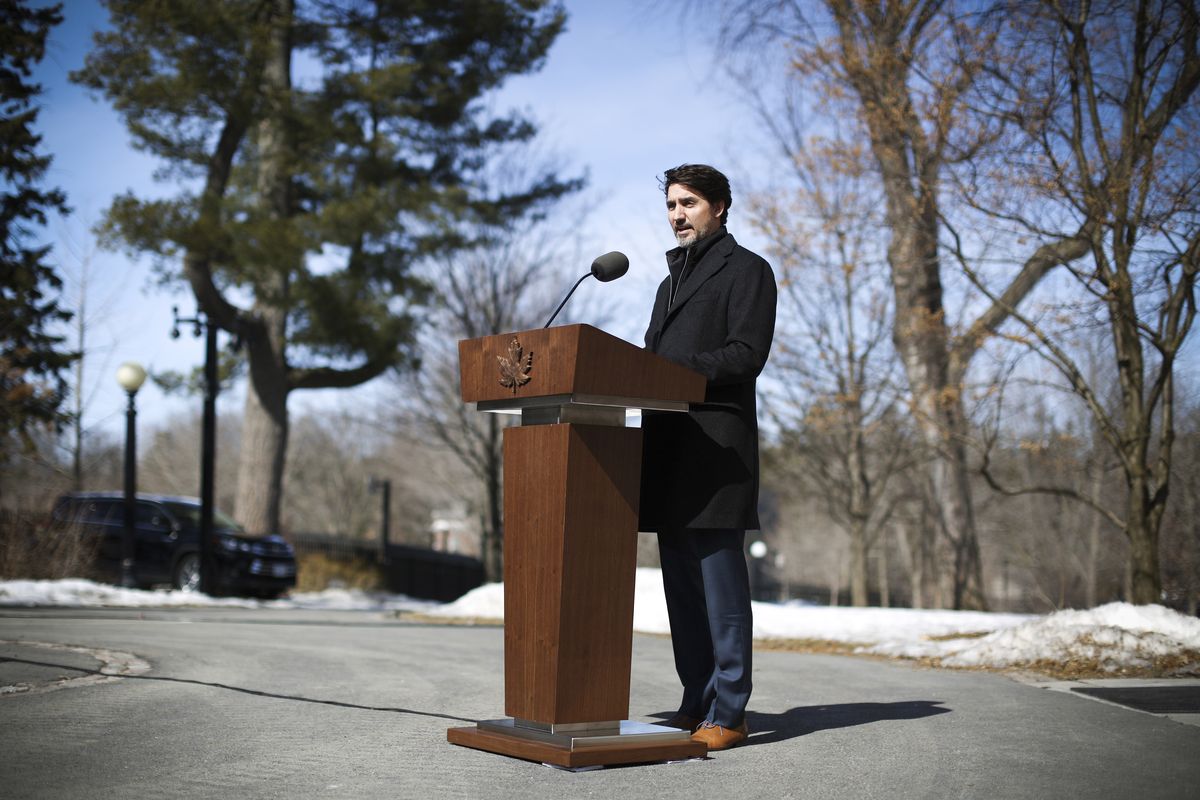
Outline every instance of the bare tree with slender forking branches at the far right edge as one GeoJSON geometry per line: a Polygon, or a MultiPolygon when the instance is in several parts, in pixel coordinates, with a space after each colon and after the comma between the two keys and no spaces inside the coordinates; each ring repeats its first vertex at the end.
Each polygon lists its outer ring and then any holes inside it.
{"type": "Polygon", "coordinates": [[[1044,219],[1074,218],[1091,257],[1090,267],[1068,269],[1082,301],[1067,313],[1018,312],[972,267],[964,236],[955,234],[953,252],[1086,404],[1120,463],[1124,493],[1114,509],[1069,487],[1000,488],[1060,493],[1099,511],[1129,540],[1132,600],[1153,603],[1162,595],[1175,363],[1195,317],[1200,263],[1200,13],[1190,0],[1028,6],[1007,31],[1018,58],[995,85],[1002,113],[1025,137],[1024,152],[1036,158],[1040,180],[1028,188],[1044,203],[1034,206],[1040,213],[992,211],[1039,236],[1044,219]],[[1116,409],[1070,347],[1081,315],[1108,330],[1116,409]]]}

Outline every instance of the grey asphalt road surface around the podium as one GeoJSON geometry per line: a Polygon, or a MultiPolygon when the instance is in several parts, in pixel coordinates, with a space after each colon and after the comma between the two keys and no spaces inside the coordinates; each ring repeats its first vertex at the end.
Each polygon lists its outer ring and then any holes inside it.
{"type": "MultiPolygon", "coordinates": [[[[788,652],[755,655],[752,735],[708,759],[568,772],[455,747],[448,727],[503,716],[502,638],[361,612],[0,609],[0,796],[1200,798],[1200,727],[788,652]]],[[[677,699],[670,642],[635,636],[631,718],[677,699]]]]}

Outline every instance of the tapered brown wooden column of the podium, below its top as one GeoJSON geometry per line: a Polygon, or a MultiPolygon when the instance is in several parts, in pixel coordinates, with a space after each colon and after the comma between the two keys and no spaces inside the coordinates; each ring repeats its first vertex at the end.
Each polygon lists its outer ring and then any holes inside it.
{"type": "Polygon", "coordinates": [[[629,714],[642,432],[504,432],[504,712],[629,714]]]}

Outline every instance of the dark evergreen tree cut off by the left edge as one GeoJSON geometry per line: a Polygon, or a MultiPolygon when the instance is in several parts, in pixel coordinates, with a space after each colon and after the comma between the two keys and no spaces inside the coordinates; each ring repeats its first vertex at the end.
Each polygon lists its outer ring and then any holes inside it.
{"type": "Polygon", "coordinates": [[[38,152],[42,138],[34,132],[42,88],[29,82],[60,12],[61,5],[35,10],[0,0],[0,457],[14,440],[32,449],[36,427],[67,419],[64,371],[74,354],[53,330],[71,313],[59,306],[62,281],[50,247],[30,242],[47,215],[67,212],[62,192],[41,186],[50,157],[38,152]]]}

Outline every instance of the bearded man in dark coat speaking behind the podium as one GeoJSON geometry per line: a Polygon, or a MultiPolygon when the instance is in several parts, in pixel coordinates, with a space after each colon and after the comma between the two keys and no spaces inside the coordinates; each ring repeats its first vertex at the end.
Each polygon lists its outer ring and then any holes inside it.
{"type": "Polygon", "coordinates": [[[709,750],[748,735],[754,621],[743,546],[758,528],[755,380],[775,332],[775,277],[725,229],[730,181],[703,164],[664,174],[678,247],[646,348],[708,379],[688,414],[647,411],[640,530],[658,531],[679,711],[667,724],[709,750]]]}

